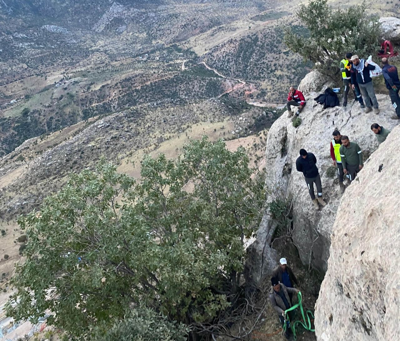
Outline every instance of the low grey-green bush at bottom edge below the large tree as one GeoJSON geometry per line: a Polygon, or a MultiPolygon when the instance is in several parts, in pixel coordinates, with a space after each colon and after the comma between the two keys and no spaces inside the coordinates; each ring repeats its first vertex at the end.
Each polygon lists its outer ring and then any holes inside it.
{"type": "Polygon", "coordinates": [[[188,329],[170,322],[163,315],[157,315],[150,309],[131,311],[123,320],[116,320],[113,327],[104,333],[96,328],[92,340],[96,341],[185,341],[188,329]]]}

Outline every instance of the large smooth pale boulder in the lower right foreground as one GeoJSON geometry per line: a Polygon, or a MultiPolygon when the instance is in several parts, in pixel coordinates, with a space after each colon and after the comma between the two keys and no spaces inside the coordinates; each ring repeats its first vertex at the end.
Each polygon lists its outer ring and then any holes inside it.
{"type": "Polygon", "coordinates": [[[400,337],[399,136],[397,126],[342,197],[316,304],[320,341],[400,337]]]}

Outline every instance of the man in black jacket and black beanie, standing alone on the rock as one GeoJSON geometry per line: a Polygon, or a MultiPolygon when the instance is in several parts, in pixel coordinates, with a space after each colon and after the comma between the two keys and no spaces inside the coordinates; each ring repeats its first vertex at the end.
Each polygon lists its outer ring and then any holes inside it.
{"type": "Polygon", "coordinates": [[[322,199],[321,177],[318,172],[316,163],[317,163],[317,158],[313,153],[308,153],[305,149],[300,149],[300,156],[296,160],[296,169],[299,172],[303,172],[311,200],[314,203],[315,209],[318,211],[320,209],[318,203],[320,203],[322,207],[324,207],[326,203],[324,199],[322,199]],[[315,193],[314,193],[314,183],[318,191],[317,199],[315,198],[315,193]]]}

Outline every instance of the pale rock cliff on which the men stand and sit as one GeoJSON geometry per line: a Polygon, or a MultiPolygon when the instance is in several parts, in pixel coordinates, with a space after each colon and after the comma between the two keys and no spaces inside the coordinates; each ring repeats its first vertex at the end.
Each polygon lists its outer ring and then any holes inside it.
{"type": "MultiPolygon", "coordinates": [[[[325,87],[315,72],[306,76],[299,86],[307,100],[307,105],[300,114],[301,125],[295,128],[285,112],[270,128],[266,143],[266,185],[270,190],[280,191],[281,195],[293,199],[294,220],[289,234],[298,248],[302,263],[311,263],[322,272],[327,270],[330,235],[341,200],[336,173],[330,174],[332,170],[336,170],[330,168],[332,132],[338,129],[343,135],[348,135],[350,140],[358,142],[366,160],[378,148],[376,137],[370,130],[371,124],[376,122],[389,129],[397,124],[397,121],[390,118],[394,111],[388,95],[377,95],[379,115],[373,112],[364,113],[358,102],[353,103],[350,98],[346,109],[338,106],[323,110],[313,98],[317,95],[316,90],[323,91],[325,87]],[[295,162],[300,148],[314,153],[317,158],[324,199],[328,203],[320,211],[314,210],[304,176],[296,170],[295,162]]],[[[362,173],[364,170],[360,174],[362,173]]],[[[256,242],[249,248],[253,260],[250,262],[251,272],[256,282],[267,278],[270,267],[276,264],[278,257],[271,249],[275,228],[272,219],[266,215],[256,242]]]]}

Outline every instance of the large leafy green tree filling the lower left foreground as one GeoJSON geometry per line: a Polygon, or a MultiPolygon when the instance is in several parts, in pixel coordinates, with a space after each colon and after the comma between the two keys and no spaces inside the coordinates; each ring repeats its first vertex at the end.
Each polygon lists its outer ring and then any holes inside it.
{"type": "Polygon", "coordinates": [[[8,315],[50,311],[48,323],[80,340],[140,305],[186,326],[212,323],[235,306],[244,240],[263,214],[253,172],[243,148],[203,137],[176,162],[144,158],[138,183],[104,162],[71,175],[18,220],[28,244],[8,315]]]}

